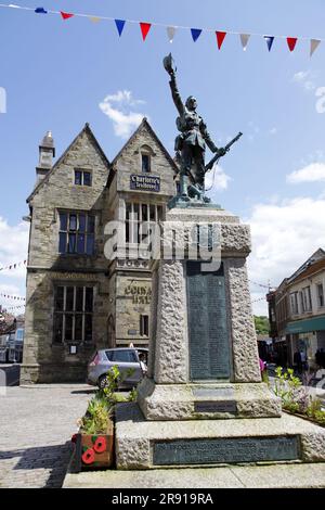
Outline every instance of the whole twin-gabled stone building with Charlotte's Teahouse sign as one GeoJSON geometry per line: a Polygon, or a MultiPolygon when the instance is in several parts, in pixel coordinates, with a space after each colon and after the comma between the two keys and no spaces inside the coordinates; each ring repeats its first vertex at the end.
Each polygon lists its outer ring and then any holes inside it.
{"type": "Polygon", "coordinates": [[[83,381],[95,348],[147,346],[147,232],[177,186],[178,168],[145,118],[112,163],[88,124],[54,156],[49,132],[27,199],[24,383],[83,381]],[[116,228],[125,250],[116,251],[116,228]]]}

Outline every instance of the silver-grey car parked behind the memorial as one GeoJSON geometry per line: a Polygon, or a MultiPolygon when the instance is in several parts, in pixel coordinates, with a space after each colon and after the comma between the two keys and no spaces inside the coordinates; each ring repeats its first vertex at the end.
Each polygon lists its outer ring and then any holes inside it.
{"type": "Polygon", "coordinates": [[[146,372],[143,358],[147,358],[147,349],[119,347],[99,349],[88,365],[88,384],[103,388],[107,382],[108,370],[117,366],[121,374],[120,390],[131,390],[142,380],[146,372]]]}

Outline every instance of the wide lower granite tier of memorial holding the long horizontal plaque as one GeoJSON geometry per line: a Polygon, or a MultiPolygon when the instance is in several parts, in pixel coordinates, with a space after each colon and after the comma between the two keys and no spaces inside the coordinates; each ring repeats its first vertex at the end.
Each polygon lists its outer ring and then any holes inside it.
{"type": "Polygon", "coordinates": [[[300,418],[147,421],[136,404],[116,412],[120,470],[324,462],[325,430],[300,418]]]}

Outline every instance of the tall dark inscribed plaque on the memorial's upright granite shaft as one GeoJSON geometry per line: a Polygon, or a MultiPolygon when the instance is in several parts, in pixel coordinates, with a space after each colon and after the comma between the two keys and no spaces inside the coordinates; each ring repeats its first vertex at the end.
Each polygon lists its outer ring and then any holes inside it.
{"type": "Polygon", "coordinates": [[[190,373],[192,381],[229,379],[230,345],[226,324],[223,264],[202,271],[187,262],[190,373]]]}

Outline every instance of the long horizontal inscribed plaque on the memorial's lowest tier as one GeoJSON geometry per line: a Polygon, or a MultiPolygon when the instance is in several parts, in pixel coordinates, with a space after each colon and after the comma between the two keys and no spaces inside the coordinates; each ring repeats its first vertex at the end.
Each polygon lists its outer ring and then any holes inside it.
{"type": "Polygon", "coordinates": [[[177,439],[154,444],[155,466],[297,460],[297,436],[177,439]]]}

